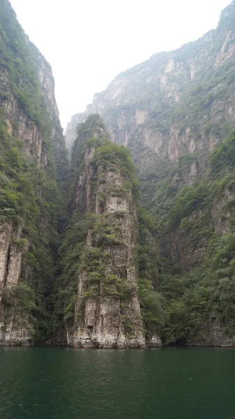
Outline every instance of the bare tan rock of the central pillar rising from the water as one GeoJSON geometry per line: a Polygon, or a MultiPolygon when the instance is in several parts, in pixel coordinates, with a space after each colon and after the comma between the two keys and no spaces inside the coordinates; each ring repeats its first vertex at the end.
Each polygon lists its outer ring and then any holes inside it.
{"type": "MultiPolygon", "coordinates": [[[[91,159],[95,150],[89,149],[85,154],[86,169],[82,175],[86,179],[86,212],[91,212],[91,192],[89,184],[93,181],[93,170],[90,166],[91,159]]],[[[70,337],[68,332],[68,344],[78,347],[100,347],[100,348],[142,348],[145,345],[142,335],[142,318],[137,298],[137,270],[134,263],[135,256],[135,237],[133,233],[136,216],[131,216],[130,205],[132,203],[131,193],[123,198],[115,194],[115,188],[122,188],[125,179],[121,172],[105,170],[98,167],[97,184],[93,186],[96,196],[92,195],[92,200],[96,201],[95,214],[105,216],[108,225],[119,229],[121,237],[120,244],[112,244],[103,248],[107,263],[104,275],[106,277],[116,276],[122,278],[128,286],[132,288],[131,297],[128,302],[121,302],[115,284],[112,284],[114,296],[105,295],[105,281],[100,282],[99,296],[96,298],[87,297],[84,302],[84,315],[81,318],[81,305],[84,294],[87,290],[87,272],[79,274],[78,297],[75,306],[75,330],[70,337]],[[103,198],[105,191],[110,191],[106,198],[103,198]],[[132,322],[132,331],[126,332],[125,321],[128,318],[132,322]]],[[[82,193],[83,195],[83,193],[82,193]]],[[[77,205],[82,205],[77,199],[77,205]]],[[[133,210],[135,212],[135,210],[133,210]]],[[[93,231],[89,230],[86,245],[90,251],[96,251],[97,243],[93,239],[93,231]]],[[[115,279],[113,280],[113,282],[115,279]]],[[[125,286],[125,284],[123,284],[125,286]]]]}

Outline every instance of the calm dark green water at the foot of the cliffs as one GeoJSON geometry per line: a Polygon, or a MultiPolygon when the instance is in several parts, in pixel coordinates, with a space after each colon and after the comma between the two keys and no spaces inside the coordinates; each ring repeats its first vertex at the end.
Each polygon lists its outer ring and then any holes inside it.
{"type": "Polygon", "coordinates": [[[235,350],[0,348],[0,419],[235,418],[235,350]]]}

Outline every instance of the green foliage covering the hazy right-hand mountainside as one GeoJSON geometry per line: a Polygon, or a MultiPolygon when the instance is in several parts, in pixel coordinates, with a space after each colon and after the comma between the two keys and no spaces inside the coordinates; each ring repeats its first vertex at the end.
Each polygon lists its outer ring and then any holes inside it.
{"type": "MultiPolygon", "coordinates": [[[[216,31],[179,50],[155,54],[121,73],[116,80],[123,82],[125,89],[118,98],[111,99],[109,88],[98,98],[105,103],[105,121],[114,134],[120,134],[116,138],[128,134],[128,147],[137,163],[142,161],[143,152],[146,156],[146,148],[139,141],[141,130],[154,129],[162,134],[160,157],[148,155],[152,166],[139,175],[142,203],[152,214],[153,228],[147,221],[139,223],[138,264],[146,330],[161,330],[166,342],[182,344],[193,339],[202,324],[211,324],[213,315],[227,333],[234,330],[235,140],[234,132],[229,132],[225,107],[234,91],[234,57],[218,62],[220,52],[227,53],[225,40],[227,45],[234,43],[234,10],[229,7],[216,31]],[[166,71],[169,62],[172,71],[166,71]],[[137,110],[144,110],[148,118],[136,127],[132,122],[137,110]],[[120,130],[124,117],[126,125],[120,130]],[[164,156],[167,138],[172,135],[170,128],[179,139],[192,138],[195,153],[181,154],[169,163],[164,156]],[[200,147],[202,141],[206,145],[211,138],[219,144],[209,156],[209,150],[202,152],[200,147]],[[196,182],[191,176],[193,170],[197,171],[196,182]],[[151,242],[151,236],[156,235],[162,242],[159,258],[151,242]],[[204,256],[195,265],[191,261],[183,265],[183,253],[193,244],[197,247],[202,238],[206,242],[204,256]],[[181,245],[179,260],[169,255],[169,243],[174,239],[181,245]],[[158,289],[158,283],[160,295],[153,289],[158,289]],[[151,315],[153,322],[148,320],[151,315]]],[[[109,146],[105,147],[107,159],[103,164],[112,168],[112,154],[109,146]]]]}

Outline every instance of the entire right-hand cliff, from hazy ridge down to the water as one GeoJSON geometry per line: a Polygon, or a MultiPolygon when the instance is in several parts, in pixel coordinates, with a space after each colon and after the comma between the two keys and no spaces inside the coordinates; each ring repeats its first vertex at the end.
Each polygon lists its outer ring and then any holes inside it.
{"type": "Polygon", "coordinates": [[[121,73],[86,109],[137,167],[158,232],[165,344],[234,345],[234,22],[232,1],[217,29],[121,73]]]}

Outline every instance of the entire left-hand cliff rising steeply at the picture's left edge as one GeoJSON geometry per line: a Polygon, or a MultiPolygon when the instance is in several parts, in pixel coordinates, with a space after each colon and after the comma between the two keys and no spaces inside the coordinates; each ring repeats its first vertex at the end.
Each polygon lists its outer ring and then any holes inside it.
{"type": "Polygon", "coordinates": [[[0,344],[28,345],[47,329],[66,149],[50,65],[0,8],[0,344]]]}

